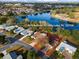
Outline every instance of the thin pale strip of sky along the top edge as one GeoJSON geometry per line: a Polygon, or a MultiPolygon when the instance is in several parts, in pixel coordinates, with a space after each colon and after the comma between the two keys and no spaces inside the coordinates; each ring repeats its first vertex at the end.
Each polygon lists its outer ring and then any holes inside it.
{"type": "Polygon", "coordinates": [[[79,0],[0,0],[4,2],[79,2],[79,0]]]}

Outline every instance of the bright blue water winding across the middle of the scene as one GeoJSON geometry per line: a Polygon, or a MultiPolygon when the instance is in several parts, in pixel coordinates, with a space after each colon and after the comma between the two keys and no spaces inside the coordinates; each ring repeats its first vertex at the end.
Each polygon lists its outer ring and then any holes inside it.
{"type": "MultiPolygon", "coordinates": [[[[42,14],[39,13],[37,15],[30,14],[25,17],[28,18],[30,21],[37,21],[37,22],[46,21],[53,26],[58,25],[66,30],[79,30],[79,24],[76,24],[76,25],[72,24],[73,26],[69,26],[70,24],[68,21],[62,22],[62,20],[60,20],[60,19],[51,17],[50,13],[42,13],[42,14]]],[[[17,16],[16,18],[18,19],[17,22],[21,22],[24,20],[21,16],[17,16]]]]}

